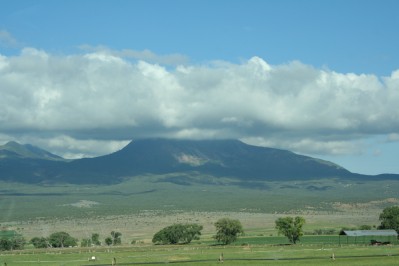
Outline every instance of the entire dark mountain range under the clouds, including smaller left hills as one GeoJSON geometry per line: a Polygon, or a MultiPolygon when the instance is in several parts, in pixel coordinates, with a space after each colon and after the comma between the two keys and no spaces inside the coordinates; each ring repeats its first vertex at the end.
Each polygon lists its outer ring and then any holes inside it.
{"type": "MultiPolygon", "coordinates": [[[[124,177],[168,173],[196,173],[245,181],[332,177],[399,179],[399,175],[355,174],[329,161],[287,150],[247,145],[238,140],[142,139],[109,155],[71,162],[54,160],[50,153],[38,148],[41,156],[27,156],[31,149],[26,145],[22,147],[24,152],[18,154],[25,154],[25,157],[7,155],[8,160],[0,160],[0,179],[102,184],[120,182],[124,177]]],[[[6,149],[5,152],[16,150],[6,149]]]]}

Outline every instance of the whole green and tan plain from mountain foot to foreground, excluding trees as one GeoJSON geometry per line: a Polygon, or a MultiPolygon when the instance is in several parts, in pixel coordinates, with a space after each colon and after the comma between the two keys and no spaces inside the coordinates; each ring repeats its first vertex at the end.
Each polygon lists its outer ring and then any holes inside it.
{"type": "MultiPolygon", "coordinates": [[[[221,253],[228,265],[392,265],[398,245],[370,246],[368,240],[341,239],[343,227],[378,226],[387,206],[398,205],[399,182],[340,179],[295,182],[237,182],[229,178],[179,175],[126,178],[112,185],[1,183],[0,226],[25,239],[66,231],[81,240],[99,233],[122,233],[120,247],[33,249],[2,252],[7,265],[216,265],[221,253]],[[188,180],[188,181],[187,181],[188,180]],[[306,219],[304,236],[288,245],[274,222],[282,216],[306,219]],[[219,246],[212,236],[223,217],[238,219],[245,236],[219,246]],[[174,223],[204,226],[201,240],[190,245],[155,246],[151,238],[174,223]],[[317,236],[315,230],[334,231],[317,236]],[[355,242],[356,241],[356,242],[355,242]],[[360,241],[360,242],[359,242],[360,241]],[[132,244],[134,243],[134,244],[132,244]],[[90,256],[96,261],[88,261],[90,256]]],[[[1,264],[0,264],[1,265],[1,264]]]]}

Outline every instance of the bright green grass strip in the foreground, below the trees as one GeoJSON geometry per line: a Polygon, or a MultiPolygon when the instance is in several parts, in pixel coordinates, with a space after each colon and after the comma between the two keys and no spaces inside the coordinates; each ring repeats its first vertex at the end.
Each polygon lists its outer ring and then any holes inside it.
{"type": "MultiPolygon", "coordinates": [[[[263,238],[265,240],[265,238],[263,238]]],[[[306,239],[306,237],[304,237],[306,239]]],[[[280,239],[281,240],[281,239],[280,239]]],[[[223,254],[224,265],[397,265],[399,248],[393,246],[337,245],[306,241],[306,244],[249,244],[248,239],[229,246],[210,243],[154,246],[132,245],[113,248],[28,249],[3,252],[0,263],[7,265],[117,265],[165,264],[217,265],[223,254]],[[244,243],[245,242],[245,243],[244,243]],[[333,260],[331,257],[335,257],[333,260]],[[95,261],[89,261],[92,256],[95,261]]]]}

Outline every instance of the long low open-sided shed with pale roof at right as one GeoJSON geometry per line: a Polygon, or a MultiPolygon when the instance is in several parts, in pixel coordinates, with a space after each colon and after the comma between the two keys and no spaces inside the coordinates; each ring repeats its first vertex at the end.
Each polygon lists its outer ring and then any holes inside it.
{"type": "Polygon", "coordinates": [[[398,233],[395,230],[342,230],[339,233],[340,244],[341,236],[346,236],[346,243],[349,243],[349,238],[354,237],[355,244],[357,243],[358,238],[362,243],[369,242],[372,245],[383,245],[398,242],[398,233]]]}

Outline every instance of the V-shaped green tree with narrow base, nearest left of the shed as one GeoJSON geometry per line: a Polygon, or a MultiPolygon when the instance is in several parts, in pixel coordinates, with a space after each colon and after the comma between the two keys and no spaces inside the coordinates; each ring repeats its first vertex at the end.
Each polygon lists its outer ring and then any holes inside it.
{"type": "Polygon", "coordinates": [[[276,220],[276,229],[278,229],[279,234],[283,234],[288,237],[290,243],[296,244],[299,237],[303,236],[302,227],[305,224],[305,219],[303,217],[297,216],[278,218],[276,220]]]}

